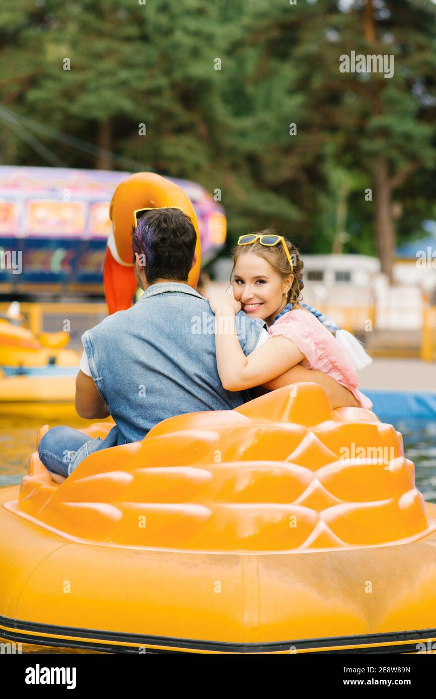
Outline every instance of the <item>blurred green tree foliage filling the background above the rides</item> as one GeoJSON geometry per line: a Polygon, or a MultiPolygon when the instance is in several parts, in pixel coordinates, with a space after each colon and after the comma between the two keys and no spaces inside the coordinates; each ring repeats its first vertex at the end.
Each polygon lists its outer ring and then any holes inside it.
{"type": "MultiPolygon", "coordinates": [[[[395,227],[402,241],[436,214],[435,45],[432,0],[6,0],[0,99],[221,189],[229,243],[275,226],[305,252],[378,251],[388,271],[395,227]],[[392,54],[393,78],[341,73],[351,51],[392,54]]],[[[67,166],[116,166],[38,138],[67,166]]],[[[45,164],[6,126],[0,148],[3,163],[45,164]]]]}

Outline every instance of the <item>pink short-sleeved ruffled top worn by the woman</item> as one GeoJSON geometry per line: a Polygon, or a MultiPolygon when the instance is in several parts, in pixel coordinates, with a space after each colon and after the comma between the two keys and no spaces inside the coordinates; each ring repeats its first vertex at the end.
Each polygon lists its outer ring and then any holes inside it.
{"type": "Polygon", "coordinates": [[[299,308],[291,310],[270,326],[268,332],[270,337],[282,335],[292,340],[305,355],[303,366],[328,374],[351,391],[361,408],[371,410],[370,399],[358,390],[356,369],[347,352],[313,313],[299,308]]]}

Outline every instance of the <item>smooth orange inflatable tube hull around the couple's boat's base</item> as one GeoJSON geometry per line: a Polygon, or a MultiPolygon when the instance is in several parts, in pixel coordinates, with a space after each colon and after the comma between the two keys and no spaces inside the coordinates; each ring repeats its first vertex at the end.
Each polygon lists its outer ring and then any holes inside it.
{"type": "Polygon", "coordinates": [[[18,492],[0,490],[8,640],[203,654],[416,653],[436,640],[435,532],[302,553],[96,545],[17,517],[3,505],[18,492]]]}

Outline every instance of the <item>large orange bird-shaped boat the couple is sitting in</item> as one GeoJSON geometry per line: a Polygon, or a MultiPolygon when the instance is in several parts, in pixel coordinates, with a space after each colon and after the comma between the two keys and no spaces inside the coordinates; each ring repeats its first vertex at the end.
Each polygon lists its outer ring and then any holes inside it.
{"type": "Polygon", "coordinates": [[[400,433],[368,410],[332,410],[315,384],[170,417],[61,485],[35,452],[0,503],[11,640],[416,653],[436,639],[436,505],[416,490],[400,433]]]}

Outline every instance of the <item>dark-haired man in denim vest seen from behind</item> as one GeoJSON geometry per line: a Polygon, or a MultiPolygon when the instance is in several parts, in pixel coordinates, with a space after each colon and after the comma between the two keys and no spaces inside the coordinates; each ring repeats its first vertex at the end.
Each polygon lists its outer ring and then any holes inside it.
{"type": "MultiPolygon", "coordinates": [[[[203,410],[232,410],[247,391],[226,391],[215,358],[215,317],[208,301],[188,284],[196,263],[196,231],[177,208],[147,210],[132,234],[133,263],[144,294],[128,310],[108,316],[82,336],[76,380],[80,417],[115,421],[104,440],[70,427],[54,427],[38,445],[52,478],[62,482],[97,449],[136,442],[168,417],[203,410]]],[[[235,317],[243,352],[268,338],[266,325],[240,311],[235,317]]],[[[293,381],[343,387],[320,372],[295,367],[293,381]],[[330,383],[329,383],[330,382],[330,383]],[[336,385],[334,385],[336,384],[336,385]]],[[[274,388],[273,382],[267,388],[274,388]]],[[[331,398],[330,394],[330,398],[331,398]]],[[[342,405],[344,405],[342,398],[342,405]]]]}

